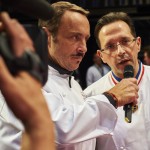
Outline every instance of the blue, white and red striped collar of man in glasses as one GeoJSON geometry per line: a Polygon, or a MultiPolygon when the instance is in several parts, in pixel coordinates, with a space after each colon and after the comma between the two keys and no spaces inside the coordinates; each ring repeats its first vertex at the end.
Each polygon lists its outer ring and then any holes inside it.
{"type": "MultiPolygon", "coordinates": [[[[142,62],[139,62],[139,70],[136,75],[138,84],[140,83],[140,81],[143,77],[143,74],[144,74],[144,65],[142,64],[142,62]]],[[[117,84],[118,82],[120,82],[122,80],[121,78],[118,78],[112,71],[111,71],[110,77],[114,84],[117,84]]]]}

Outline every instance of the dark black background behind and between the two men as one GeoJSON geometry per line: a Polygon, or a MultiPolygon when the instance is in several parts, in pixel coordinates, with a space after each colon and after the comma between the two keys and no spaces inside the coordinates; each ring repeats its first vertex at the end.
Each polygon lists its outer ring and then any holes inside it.
{"type": "MultiPolygon", "coordinates": [[[[50,3],[59,0],[48,0],[50,3]]],[[[88,9],[91,14],[89,16],[91,26],[91,37],[87,43],[87,53],[80,67],[81,86],[86,87],[85,75],[87,68],[93,64],[93,53],[98,49],[94,39],[94,27],[97,20],[104,14],[111,11],[124,11],[133,19],[137,36],[142,38],[142,47],[150,45],[150,0],[65,0],[75,3],[85,9],[88,9]]],[[[17,18],[22,24],[37,24],[37,20],[30,16],[20,14],[13,9],[7,9],[12,17],[17,18]]],[[[139,53],[139,59],[143,61],[143,53],[139,53]]]]}

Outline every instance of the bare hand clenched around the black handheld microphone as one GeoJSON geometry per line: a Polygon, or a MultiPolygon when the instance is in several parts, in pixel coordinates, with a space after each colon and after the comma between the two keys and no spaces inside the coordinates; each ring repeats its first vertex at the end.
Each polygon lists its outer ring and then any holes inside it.
{"type": "Polygon", "coordinates": [[[128,78],[122,79],[108,92],[115,95],[118,106],[124,106],[129,103],[133,103],[134,106],[137,104],[137,99],[139,97],[138,90],[137,80],[135,78],[128,78]]]}

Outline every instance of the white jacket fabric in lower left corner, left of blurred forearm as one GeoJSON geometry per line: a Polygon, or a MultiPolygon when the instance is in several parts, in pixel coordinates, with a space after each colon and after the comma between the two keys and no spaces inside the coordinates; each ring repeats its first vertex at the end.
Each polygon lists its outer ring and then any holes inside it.
{"type": "Polygon", "coordinates": [[[24,130],[0,93],[0,150],[20,150],[24,130]]]}

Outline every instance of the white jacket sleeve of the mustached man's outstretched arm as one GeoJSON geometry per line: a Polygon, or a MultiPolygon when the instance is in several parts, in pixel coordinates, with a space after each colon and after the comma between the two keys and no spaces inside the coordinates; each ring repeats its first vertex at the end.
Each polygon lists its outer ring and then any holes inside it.
{"type": "Polygon", "coordinates": [[[56,143],[71,144],[113,131],[117,115],[104,95],[87,98],[83,104],[65,104],[62,97],[44,91],[56,128],[56,143]]]}

